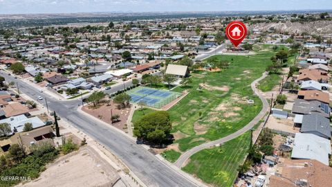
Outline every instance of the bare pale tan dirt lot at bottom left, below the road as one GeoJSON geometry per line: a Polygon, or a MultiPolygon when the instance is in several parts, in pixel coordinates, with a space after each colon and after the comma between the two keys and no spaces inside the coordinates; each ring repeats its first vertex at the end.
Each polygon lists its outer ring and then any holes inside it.
{"type": "Polygon", "coordinates": [[[116,170],[89,146],[60,157],[42,175],[24,185],[46,186],[113,186],[120,177],[116,170]]]}

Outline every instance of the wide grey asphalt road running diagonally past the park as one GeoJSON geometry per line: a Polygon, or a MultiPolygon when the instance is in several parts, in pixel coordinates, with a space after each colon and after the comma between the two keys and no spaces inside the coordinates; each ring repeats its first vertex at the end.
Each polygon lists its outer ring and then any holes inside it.
{"type": "MultiPolygon", "coordinates": [[[[93,139],[109,148],[116,156],[121,159],[147,186],[197,186],[181,173],[169,168],[165,163],[158,160],[153,154],[137,145],[132,139],[114,131],[111,127],[93,120],[80,112],[77,106],[80,100],[59,101],[53,97],[40,93],[35,87],[14,79],[7,73],[0,72],[6,81],[18,82],[20,92],[37,99],[37,96],[47,98],[50,110],[55,110],[62,119],[66,118],[77,129],[89,134],[93,139]]],[[[45,100],[39,100],[46,106],[45,100]]]]}

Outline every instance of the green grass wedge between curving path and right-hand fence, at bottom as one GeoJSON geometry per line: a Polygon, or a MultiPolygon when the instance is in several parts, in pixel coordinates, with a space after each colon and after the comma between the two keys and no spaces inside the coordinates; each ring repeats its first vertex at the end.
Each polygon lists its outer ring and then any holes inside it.
{"type": "Polygon", "coordinates": [[[219,147],[197,152],[182,170],[213,186],[232,186],[249,147],[250,132],[246,132],[219,147]]]}

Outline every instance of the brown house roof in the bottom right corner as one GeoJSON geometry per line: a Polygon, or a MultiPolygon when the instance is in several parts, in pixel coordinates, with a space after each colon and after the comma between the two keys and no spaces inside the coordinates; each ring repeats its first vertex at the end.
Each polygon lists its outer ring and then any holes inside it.
{"type": "Polygon", "coordinates": [[[332,168],[316,160],[279,159],[275,175],[270,177],[270,187],[294,187],[300,179],[306,186],[330,186],[332,168]]]}

